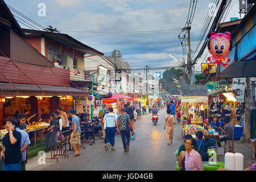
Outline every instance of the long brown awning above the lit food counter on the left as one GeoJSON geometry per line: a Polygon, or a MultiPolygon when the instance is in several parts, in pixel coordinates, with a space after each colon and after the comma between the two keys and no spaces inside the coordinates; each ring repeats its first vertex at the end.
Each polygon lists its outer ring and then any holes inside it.
{"type": "Polygon", "coordinates": [[[87,96],[89,91],[68,86],[0,82],[0,96],[87,96]]]}

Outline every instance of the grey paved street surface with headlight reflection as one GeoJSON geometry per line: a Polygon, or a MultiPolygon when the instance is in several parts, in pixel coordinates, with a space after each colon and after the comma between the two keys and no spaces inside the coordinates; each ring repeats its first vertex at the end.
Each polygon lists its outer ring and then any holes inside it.
{"type": "Polygon", "coordinates": [[[120,135],[115,137],[116,151],[105,151],[104,142],[97,137],[95,145],[86,144],[86,149],[81,149],[81,156],[73,158],[73,152],[69,152],[69,158],[60,156],[59,162],[47,160],[46,165],[34,170],[175,170],[174,152],[182,143],[181,125],[175,125],[173,143],[168,146],[164,139],[165,113],[166,109],[159,111],[156,126],[151,122],[151,114],[137,120],[137,135],[130,142],[130,152],[123,152],[120,135]]]}

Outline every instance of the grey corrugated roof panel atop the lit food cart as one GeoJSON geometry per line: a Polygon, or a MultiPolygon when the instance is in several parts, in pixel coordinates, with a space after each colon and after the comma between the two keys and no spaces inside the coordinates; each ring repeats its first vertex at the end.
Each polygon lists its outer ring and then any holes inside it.
{"type": "Polygon", "coordinates": [[[208,96],[207,85],[182,85],[181,96],[208,96]]]}

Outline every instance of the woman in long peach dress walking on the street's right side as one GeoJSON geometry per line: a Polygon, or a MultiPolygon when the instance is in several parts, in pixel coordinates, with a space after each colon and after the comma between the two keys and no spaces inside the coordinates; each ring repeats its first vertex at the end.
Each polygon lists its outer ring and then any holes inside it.
{"type": "Polygon", "coordinates": [[[167,144],[170,145],[170,140],[172,143],[172,138],[174,137],[174,115],[171,114],[171,109],[167,109],[167,115],[164,117],[164,122],[166,123],[164,126],[166,141],[167,144]]]}

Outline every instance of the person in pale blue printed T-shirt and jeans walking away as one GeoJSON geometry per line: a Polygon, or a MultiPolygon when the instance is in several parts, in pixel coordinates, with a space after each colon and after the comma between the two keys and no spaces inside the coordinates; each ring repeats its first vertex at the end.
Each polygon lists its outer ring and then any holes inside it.
{"type": "MultiPolygon", "coordinates": [[[[115,123],[117,122],[117,114],[114,114],[113,108],[109,107],[109,113],[105,114],[103,123],[106,129],[106,151],[109,150],[109,143],[112,151],[115,151],[115,123]]],[[[118,131],[118,130],[117,130],[118,131]]]]}

